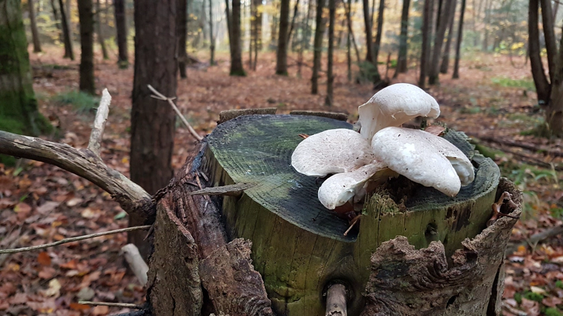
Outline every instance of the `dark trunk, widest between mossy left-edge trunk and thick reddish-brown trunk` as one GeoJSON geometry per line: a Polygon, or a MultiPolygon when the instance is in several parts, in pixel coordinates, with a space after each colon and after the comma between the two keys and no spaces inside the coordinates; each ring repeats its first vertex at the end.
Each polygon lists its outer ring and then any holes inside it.
{"type": "Polygon", "coordinates": [[[92,0],[78,0],[80,19],[80,91],[96,94],[94,80],[94,14],[92,0]]]}

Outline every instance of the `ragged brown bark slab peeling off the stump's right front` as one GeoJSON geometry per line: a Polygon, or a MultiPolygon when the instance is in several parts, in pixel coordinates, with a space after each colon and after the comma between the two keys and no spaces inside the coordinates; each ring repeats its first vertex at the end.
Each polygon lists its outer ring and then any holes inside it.
{"type": "MultiPolygon", "coordinates": [[[[520,215],[522,193],[506,179],[498,191],[511,193],[517,206],[503,213],[520,215]]],[[[504,249],[516,221],[504,216],[466,238],[449,267],[441,242],[419,250],[402,236],[384,242],[371,257],[362,315],[500,315],[504,249]]]]}

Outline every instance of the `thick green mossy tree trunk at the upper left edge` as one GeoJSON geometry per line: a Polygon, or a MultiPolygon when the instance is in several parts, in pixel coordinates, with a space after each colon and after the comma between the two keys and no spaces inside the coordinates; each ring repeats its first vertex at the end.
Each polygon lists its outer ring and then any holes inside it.
{"type": "Polygon", "coordinates": [[[0,30],[0,130],[37,136],[50,125],[37,110],[19,0],[0,2],[0,30]]]}

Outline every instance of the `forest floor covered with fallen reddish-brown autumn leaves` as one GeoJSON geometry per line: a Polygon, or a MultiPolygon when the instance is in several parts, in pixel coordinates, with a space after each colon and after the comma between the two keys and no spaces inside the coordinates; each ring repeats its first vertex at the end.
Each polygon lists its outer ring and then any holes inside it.
{"type": "MultiPolygon", "coordinates": [[[[59,131],[55,140],[84,148],[96,100],[77,94],[78,62],[62,59],[62,53],[60,48],[30,53],[34,90],[41,112],[59,131]]],[[[205,60],[207,52],[198,56],[205,60]]],[[[101,157],[128,176],[133,67],[119,70],[114,59],[96,57],[98,92],[107,87],[112,95],[101,157]]],[[[260,54],[257,70],[248,71],[243,78],[228,76],[227,54],[219,54],[217,66],[202,63],[189,67],[188,78],[178,81],[176,101],[181,112],[201,135],[213,130],[224,109],[343,112],[353,122],[357,106],[375,92],[370,83],[350,83],[345,55],[337,54],[334,105],[325,107],[324,73],[319,94],[313,95],[310,68],[303,66],[299,76],[296,56],[290,54],[289,76],[276,76],[274,58],[272,52],[260,54]]],[[[305,62],[312,64],[309,54],[305,62]]],[[[357,72],[357,67],[353,70],[357,72]]],[[[386,73],[384,65],[379,70],[386,73]]],[[[388,76],[394,72],[389,70],[388,76]]],[[[534,129],[544,122],[543,112],[536,105],[529,65],[523,60],[511,63],[507,56],[468,52],[460,74],[458,80],[442,74],[441,84],[428,90],[442,109],[437,120],[465,131],[478,143],[478,149],[497,162],[502,176],[524,191],[522,220],[513,229],[511,240],[515,251],[506,260],[503,313],[563,315],[563,238],[550,235],[539,242],[526,242],[536,233],[563,225],[563,142],[533,136],[534,129]]],[[[416,78],[413,67],[393,83],[416,83],[416,78]]],[[[178,124],[172,158],[176,169],[194,145],[194,138],[178,124]]],[[[119,205],[78,176],[41,162],[19,160],[15,167],[0,165],[0,249],[126,226],[127,216],[119,205]]],[[[0,314],[108,315],[128,309],[77,302],[142,304],[144,288],[126,273],[119,252],[124,244],[126,235],[120,233],[44,251],[0,255],[0,314]]]]}

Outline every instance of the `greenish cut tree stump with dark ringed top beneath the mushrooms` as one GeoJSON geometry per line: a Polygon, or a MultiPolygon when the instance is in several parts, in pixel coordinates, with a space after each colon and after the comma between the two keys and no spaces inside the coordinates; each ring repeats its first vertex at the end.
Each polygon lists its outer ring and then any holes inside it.
{"type": "MultiPolygon", "coordinates": [[[[244,193],[217,202],[228,240],[253,242],[250,257],[277,315],[324,315],[324,295],[334,283],[346,286],[348,315],[359,315],[371,301],[362,294],[368,282],[373,285],[372,254],[384,242],[405,236],[404,243],[408,240],[415,249],[423,249],[439,241],[442,264],[454,264],[455,259],[445,258],[466,246],[466,238],[486,229],[493,215],[499,169],[474,151],[465,134],[448,131],[444,138],[473,162],[475,181],[450,198],[405,178],[393,180],[366,202],[359,228],[344,235],[348,220],[317,199],[322,179],[297,173],[290,165],[291,154],[302,140],[299,134],[336,128],[352,125],[317,116],[241,116],[218,125],[206,138],[201,171],[210,185],[244,184],[244,193]]],[[[496,265],[491,266],[493,276],[502,263],[498,261],[491,262],[496,265]]],[[[408,264],[389,261],[379,271],[400,274],[408,271],[408,264]]],[[[495,278],[489,279],[475,278],[469,285],[490,293],[495,278]]],[[[410,286],[408,282],[395,285],[410,286]]],[[[480,311],[467,315],[482,315],[480,311]]]]}

